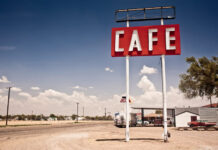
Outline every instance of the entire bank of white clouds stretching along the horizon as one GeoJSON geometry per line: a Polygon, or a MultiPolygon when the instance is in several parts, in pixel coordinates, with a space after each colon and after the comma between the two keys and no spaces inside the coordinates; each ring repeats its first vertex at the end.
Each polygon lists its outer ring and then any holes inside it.
{"type": "MultiPolygon", "coordinates": [[[[137,87],[141,93],[132,95],[130,93],[133,102],[130,107],[162,107],[162,92],[157,90],[154,83],[143,75],[137,83],[137,87]]],[[[17,91],[11,96],[11,113],[27,113],[32,111],[37,114],[48,115],[50,113],[55,114],[76,114],[76,103],[79,102],[79,115],[82,114],[82,107],[85,108],[85,115],[96,116],[104,115],[104,108],[110,114],[115,112],[125,111],[125,103],[120,103],[120,99],[123,93],[114,94],[110,97],[101,97],[95,94],[89,94],[86,90],[81,89],[80,86],[75,86],[75,90],[72,93],[65,93],[54,89],[47,89],[39,92],[37,95],[31,95],[27,92],[23,92],[18,87],[13,87],[12,90],[17,91]],[[18,95],[16,97],[16,95],[18,95]],[[25,102],[24,102],[25,100],[25,102]]],[[[1,91],[1,90],[0,90],[1,91]]],[[[213,99],[213,102],[217,101],[213,99]]],[[[0,93],[0,103],[3,109],[0,109],[0,113],[4,113],[6,110],[7,95],[0,93]],[[4,105],[4,106],[3,106],[4,105]]],[[[179,91],[178,88],[170,86],[167,91],[167,106],[168,107],[195,107],[209,104],[209,101],[204,98],[196,97],[195,99],[186,99],[179,91]]]]}

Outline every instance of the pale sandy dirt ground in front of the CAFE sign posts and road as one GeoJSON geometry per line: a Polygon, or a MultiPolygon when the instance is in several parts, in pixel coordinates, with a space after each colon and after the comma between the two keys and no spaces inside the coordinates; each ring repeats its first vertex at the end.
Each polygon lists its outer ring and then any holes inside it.
{"type": "Polygon", "coordinates": [[[125,128],[113,122],[0,128],[0,150],[218,150],[218,131],[178,131],[162,140],[161,127],[125,128]]]}

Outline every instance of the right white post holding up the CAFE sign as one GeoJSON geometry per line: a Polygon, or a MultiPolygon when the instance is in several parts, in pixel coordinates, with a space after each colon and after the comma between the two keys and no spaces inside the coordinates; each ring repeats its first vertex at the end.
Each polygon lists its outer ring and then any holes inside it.
{"type": "MultiPolygon", "coordinates": [[[[161,19],[161,25],[164,25],[163,19],[161,19]]],[[[163,97],[164,142],[168,142],[165,55],[161,55],[161,67],[162,67],[162,97],[163,97]]]]}

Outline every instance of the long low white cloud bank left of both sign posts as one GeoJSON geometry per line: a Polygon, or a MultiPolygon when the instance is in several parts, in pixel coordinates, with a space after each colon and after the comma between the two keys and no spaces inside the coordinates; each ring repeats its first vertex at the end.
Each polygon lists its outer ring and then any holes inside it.
{"type": "MultiPolygon", "coordinates": [[[[120,95],[101,99],[96,95],[89,95],[82,91],[73,91],[67,94],[54,89],[42,91],[35,96],[27,92],[19,92],[17,95],[14,93],[11,96],[11,113],[13,114],[30,114],[34,111],[36,114],[45,115],[50,113],[72,115],[76,114],[77,102],[79,102],[79,114],[82,114],[81,108],[84,107],[85,115],[90,116],[104,115],[105,107],[111,114],[123,108],[123,104],[120,103],[120,95]]],[[[0,98],[1,105],[6,107],[7,96],[0,94],[0,98]]],[[[5,109],[0,109],[0,113],[3,112],[5,109]]]]}

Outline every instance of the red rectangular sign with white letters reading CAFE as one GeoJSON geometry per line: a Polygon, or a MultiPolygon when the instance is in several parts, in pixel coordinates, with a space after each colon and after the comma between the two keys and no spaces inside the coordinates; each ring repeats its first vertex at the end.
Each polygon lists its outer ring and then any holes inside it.
{"type": "Polygon", "coordinates": [[[179,25],[112,28],[111,55],[180,55],[179,25]]]}

